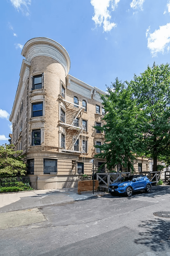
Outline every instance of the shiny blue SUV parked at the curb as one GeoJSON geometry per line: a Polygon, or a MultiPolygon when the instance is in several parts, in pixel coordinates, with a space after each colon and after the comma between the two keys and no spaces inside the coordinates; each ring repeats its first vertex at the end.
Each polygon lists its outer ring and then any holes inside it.
{"type": "Polygon", "coordinates": [[[133,195],[134,191],[145,190],[147,193],[151,191],[151,181],[145,175],[130,175],[122,177],[118,182],[109,185],[109,193],[133,195]]]}

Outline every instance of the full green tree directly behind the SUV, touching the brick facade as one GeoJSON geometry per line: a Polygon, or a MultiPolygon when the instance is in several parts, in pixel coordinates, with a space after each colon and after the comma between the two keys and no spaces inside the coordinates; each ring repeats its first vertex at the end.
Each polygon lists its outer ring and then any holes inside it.
{"type": "Polygon", "coordinates": [[[135,154],[142,150],[142,133],[139,124],[142,111],[137,100],[133,97],[133,90],[116,78],[112,87],[107,87],[108,94],[101,95],[106,115],[103,117],[104,125],[95,126],[105,132],[105,142],[100,148],[101,153],[95,157],[105,158],[107,168],[110,170],[117,164],[134,171],[133,162],[135,154]]]}

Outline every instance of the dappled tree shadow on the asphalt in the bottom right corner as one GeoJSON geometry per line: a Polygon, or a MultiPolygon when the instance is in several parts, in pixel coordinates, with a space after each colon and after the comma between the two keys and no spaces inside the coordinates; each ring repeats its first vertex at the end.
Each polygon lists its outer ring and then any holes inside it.
{"type": "Polygon", "coordinates": [[[145,231],[139,233],[141,237],[134,240],[135,244],[143,244],[154,252],[170,249],[170,221],[146,220],[141,221],[139,227],[144,228],[145,231]]]}

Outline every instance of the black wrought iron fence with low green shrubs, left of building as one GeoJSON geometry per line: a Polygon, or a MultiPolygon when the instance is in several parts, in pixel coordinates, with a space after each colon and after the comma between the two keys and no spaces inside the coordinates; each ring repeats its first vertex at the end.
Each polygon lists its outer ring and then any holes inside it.
{"type": "Polygon", "coordinates": [[[0,177],[0,187],[23,187],[30,186],[37,189],[37,176],[14,176],[14,177],[0,177]]]}

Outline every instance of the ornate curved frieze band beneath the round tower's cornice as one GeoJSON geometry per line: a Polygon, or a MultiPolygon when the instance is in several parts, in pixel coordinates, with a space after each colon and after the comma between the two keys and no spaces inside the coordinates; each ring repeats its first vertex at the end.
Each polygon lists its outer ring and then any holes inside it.
{"type": "Polygon", "coordinates": [[[26,60],[31,62],[31,60],[36,57],[36,56],[48,56],[51,57],[55,60],[57,60],[58,62],[60,62],[60,64],[62,64],[63,68],[65,69],[65,72],[67,74],[67,61],[65,59],[65,57],[63,56],[63,54],[59,51],[56,50],[56,48],[54,48],[53,46],[47,46],[45,44],[38,44],[36,46],[32,46],[30,47],[30,49],[28,50],[27,54],[26,54],[26,60]]]}

